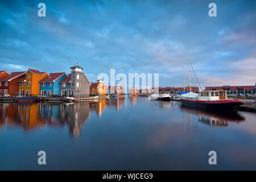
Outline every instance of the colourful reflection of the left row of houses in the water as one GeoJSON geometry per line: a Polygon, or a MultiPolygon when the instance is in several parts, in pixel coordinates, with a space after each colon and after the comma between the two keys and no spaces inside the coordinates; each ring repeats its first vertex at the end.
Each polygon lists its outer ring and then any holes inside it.
{"type": "Polygon", "coordinates": [[[4,126],[19,126],[26,130],[46,124],[52,127],[69,126],[69,133],[79,137],[81,128],[90,118],[90,111],[96,111],[101,117],[106,106],[106,100],[96,100],[80,103],[21,103],[0,104],[0,129],[4,126]]]}

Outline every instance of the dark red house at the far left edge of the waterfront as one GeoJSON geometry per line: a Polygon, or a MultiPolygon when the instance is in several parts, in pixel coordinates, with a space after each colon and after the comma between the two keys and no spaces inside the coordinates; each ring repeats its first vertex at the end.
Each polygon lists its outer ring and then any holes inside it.
{"type": "Polygon", "coordinates": [[[25,77],[26,72],[13,72],[10,75],[0,78],[0,96],[15,96],[19,93],[20,78],[25,77]]]}

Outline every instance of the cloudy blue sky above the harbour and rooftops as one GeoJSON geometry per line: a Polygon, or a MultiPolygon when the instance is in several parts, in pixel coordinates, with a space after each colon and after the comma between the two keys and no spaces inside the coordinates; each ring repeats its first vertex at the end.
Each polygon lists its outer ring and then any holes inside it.
{"type": "Polygon", "coordinates": [[[78,62],[91,82],[114,68],[180,87],[188,60],[203,88],[254,85],[256,1],[0,1],[0,70],[69,73],[78,62]]]}

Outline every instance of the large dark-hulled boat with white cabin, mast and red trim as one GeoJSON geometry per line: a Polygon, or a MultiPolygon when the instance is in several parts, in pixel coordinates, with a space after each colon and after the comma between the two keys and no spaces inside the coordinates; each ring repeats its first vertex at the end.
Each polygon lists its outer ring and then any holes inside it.
{"type": "Polygon", "coordinates": [[[213,109],[234,109],[234,107],[243,104],[242,100],[227,98],[226,90],[201,91],[199,93],[191,92],[191,63],[189,66],[189,93],[180,96],[181,104],[198,107],[210,107],[213,109]]]}

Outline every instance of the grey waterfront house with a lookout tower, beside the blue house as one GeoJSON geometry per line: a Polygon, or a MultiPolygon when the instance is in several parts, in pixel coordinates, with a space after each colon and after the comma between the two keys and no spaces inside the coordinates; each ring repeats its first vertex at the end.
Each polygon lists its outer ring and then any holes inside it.
{"type": "Polygon", "coordinates": [[[90,94],[90,81],[79,65],[71,67],[71,74],[60,81],[61,96],[82,97],[90,94]]]}

